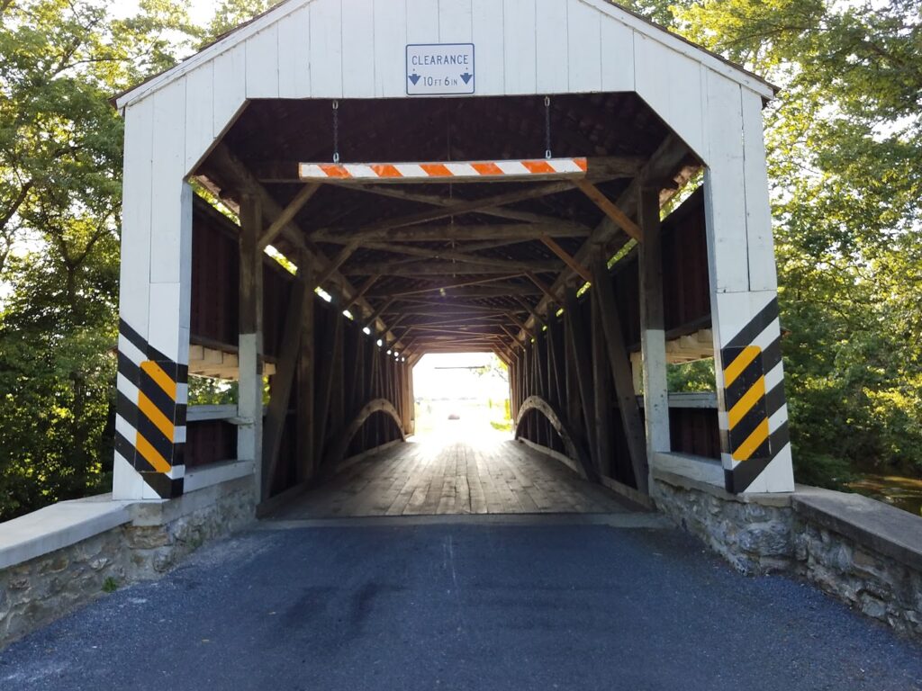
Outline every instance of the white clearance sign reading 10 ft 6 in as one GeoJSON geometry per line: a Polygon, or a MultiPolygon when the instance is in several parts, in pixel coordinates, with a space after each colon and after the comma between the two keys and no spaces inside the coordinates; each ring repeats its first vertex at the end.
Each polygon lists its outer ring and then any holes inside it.
{"type": "Polygon", "coordinates": [[[473,43],[410,43],[407,95],[474,93],[473,43]]]}

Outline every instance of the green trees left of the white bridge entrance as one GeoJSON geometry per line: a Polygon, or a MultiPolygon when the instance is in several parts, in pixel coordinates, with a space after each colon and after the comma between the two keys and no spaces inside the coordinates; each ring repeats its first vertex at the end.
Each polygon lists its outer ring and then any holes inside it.
{"type": "Polygon", "coordinates": [[[122,121],[113,93],[200,37],[183,6],[0,2],[0,520],[104,491],[122,121]],[[184,38],[183,38],[184,37],[184,38]]]}

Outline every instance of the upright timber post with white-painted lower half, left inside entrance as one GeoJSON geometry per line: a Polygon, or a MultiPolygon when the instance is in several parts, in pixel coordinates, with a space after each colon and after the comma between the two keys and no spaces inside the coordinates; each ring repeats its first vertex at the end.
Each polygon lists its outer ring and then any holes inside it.
{"type": "Polygon", "coordinates": [[[237,457],[254,462],[256,501],[263,497],[263,253],[259,234],[263,209],[258,197],[241,199],[237,457]]]}

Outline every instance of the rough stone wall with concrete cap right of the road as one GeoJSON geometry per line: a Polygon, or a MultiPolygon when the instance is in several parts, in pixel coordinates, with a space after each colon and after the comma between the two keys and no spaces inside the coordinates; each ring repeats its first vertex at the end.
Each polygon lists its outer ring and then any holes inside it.
{"type": "Polygon", "coordinates": [[[658,509],[739,571],[803,578],[922,639],[922,518],[816,487],[735,496],[665,472],[653,492],[658,509]]]}

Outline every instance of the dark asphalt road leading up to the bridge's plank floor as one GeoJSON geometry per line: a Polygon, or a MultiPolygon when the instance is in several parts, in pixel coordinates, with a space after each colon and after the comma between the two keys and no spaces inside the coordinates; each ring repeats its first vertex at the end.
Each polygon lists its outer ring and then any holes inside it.
{"type": "Polygon", "coordinates": [[[922,689],[922,647],[671,530],[272,528],[0,652],[0,688],[922,689]]]}

